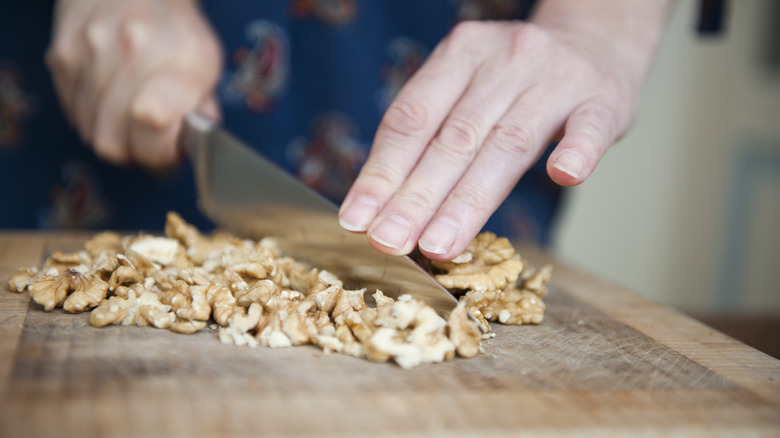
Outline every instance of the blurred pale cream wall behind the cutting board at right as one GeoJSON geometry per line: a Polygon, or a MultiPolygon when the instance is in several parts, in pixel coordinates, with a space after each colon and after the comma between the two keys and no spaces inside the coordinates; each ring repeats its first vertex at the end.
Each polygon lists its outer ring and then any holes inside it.
{"type": "Polygon", "coordinates": [[[634,129],[571,191],[556,250],[693,312],[780,313],[780,2],[719,36],[681,0],[634,129]]]}

